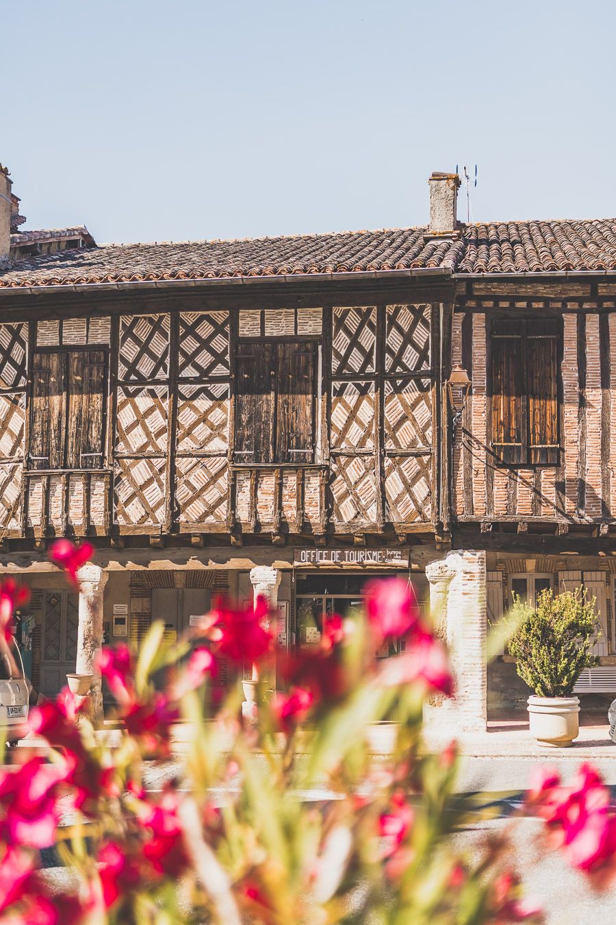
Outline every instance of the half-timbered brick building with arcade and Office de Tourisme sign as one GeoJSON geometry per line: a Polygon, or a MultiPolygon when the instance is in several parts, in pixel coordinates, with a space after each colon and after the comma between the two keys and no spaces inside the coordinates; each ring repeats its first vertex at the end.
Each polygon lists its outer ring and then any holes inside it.
{"type": "Polygon", "coordinates": [[[312,645],[391,573],[443,616],[469,728],[525,696],[483,660],[512,592],[584,583],[616,665],[616,221],[464,226],[434,174],[422,228],[11,261],[3,183],[0,570],[43,694],[89,627],[139,644],[263,592],[312,645]],[[95,547],[79,596],[55,536],[95,547]]]}

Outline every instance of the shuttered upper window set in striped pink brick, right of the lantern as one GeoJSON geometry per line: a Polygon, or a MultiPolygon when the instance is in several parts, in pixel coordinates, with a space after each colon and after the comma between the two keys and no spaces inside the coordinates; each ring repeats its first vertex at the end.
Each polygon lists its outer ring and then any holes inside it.
{"type": "Polygon", "coordinates": [[[492,323],[491,443],[505,465],[558,465],[556,319],[492,323]]]}

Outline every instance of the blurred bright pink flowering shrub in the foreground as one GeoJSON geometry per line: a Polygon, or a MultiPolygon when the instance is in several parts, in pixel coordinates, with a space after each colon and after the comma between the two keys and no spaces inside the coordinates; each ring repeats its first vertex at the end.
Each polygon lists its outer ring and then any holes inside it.
{"type": "MultiPolygon", "coordinates": [[[[76,579],[83,553],[60,551],[76,579]]],[[[0,602],[15,597],[0,589],[0,602]]],[[[502,839],[472,858],[453,849],[465,812],[455,746],[428,755],[420,737],[425,697],[451,694],[453,678],[405,585],[373,583],[365,616],[333,618],[320,644],[298,653],[275,650],[267,611],[264,600],[224,602],[177,645],[155,624],[137,658],[104,649],[99,668],[126,727],[115,749],[66,690],[31,711],[30,730],[52,750],[42,759],[19,748],[0,770],[0,921],[541,921],[502,839]],[[383,639],[400,634],[405,653],[377,660],[383,639]],[[221,656],[255,661],[269,677],[275,666],[284,690],[257,682],[258,707],[244,718],[238,683],[206,721],[221,656]],[[145,762],[164,766],[179,719],[192,733],[185,761],[148,791],[145,762]],[[376,759],[369,730],[385,720],[395,745],[376,759]],[[39,870],[51,845],[76,875],[64,894],[39,870]]],[[[530,799],[573,863],[595,870],[613,853],[614,826],[605,788],[582,775],[565,793],[544,774],[530,799]]]]}

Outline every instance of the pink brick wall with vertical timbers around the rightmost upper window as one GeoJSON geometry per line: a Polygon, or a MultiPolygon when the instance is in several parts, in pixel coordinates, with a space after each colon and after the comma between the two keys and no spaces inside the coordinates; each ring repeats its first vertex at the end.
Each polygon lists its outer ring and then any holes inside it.
{"type": "Polygon", "coordinates": [[[547,301],[466,299],[453,316],[452,361],[472,378],[453,444],[458,520],[610,522],[616,515],[614,302],[556,303],[562,316],[561,464],[511,467],[490,454],[489,332],[495,313],[554,316],[547,301]]]}

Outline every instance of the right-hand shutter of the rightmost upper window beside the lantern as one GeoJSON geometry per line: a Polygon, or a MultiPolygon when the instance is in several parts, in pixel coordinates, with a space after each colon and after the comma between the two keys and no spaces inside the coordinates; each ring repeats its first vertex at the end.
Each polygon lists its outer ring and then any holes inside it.
{"type": "Polygon", "coordinates": [[[558,330],[551,320],[526,322],[528,462],[558,465],[558,330]]]}

